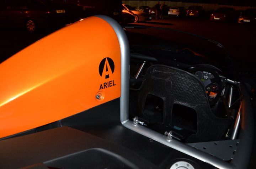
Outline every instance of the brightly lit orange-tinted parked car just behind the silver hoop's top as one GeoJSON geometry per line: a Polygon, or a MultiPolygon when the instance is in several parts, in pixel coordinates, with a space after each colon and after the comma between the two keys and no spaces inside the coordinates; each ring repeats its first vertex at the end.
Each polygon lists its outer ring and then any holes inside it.
{"type": "Polygon", "coordinates": [[[137,11],[130,5],[123,4],[123,12],[134,16],[134,22],[151,21],[151,16],[148,13],[137,11]]]}

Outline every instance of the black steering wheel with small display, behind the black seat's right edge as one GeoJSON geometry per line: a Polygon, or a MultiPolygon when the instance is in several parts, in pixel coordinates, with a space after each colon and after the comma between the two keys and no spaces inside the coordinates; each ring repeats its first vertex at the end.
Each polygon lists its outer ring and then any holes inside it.
{"type": "Polygon", "coordinates": [[[223,89],[219,74],[213,69],[203,66],[194,67],[189,69],[188,72],[196,75],[202,81],[207,92],[209,104],[214,106],[219,100],[223,89]],[[210,92],[214,92],[216,95],[212,98],[210,92]]]}

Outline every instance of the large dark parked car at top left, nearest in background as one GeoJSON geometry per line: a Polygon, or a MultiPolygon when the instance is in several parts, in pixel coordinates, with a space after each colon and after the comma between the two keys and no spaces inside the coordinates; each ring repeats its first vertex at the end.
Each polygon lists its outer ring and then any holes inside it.
{"type": "Polygon", "coordinates": [[[2,26],[24,27],[28,32],[44,28],[59,28],[78,21],[82,8],[51,0],[2,0],[2,26]]]}

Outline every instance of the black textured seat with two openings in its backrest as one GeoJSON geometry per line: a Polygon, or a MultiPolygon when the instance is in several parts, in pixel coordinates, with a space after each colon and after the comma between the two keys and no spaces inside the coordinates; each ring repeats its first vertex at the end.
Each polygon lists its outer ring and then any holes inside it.
{"type": "Polygon", "coordinates": [[[218,140],[230,124],[230,119],[218,118],[212,113],[203,83],[186,71],[164,65],[148,68],[138,91],[138,112],[141,118],[145,117],[145,103],[149,95],[163,101],[163,117],[158,125],[174,127],[174,105],[188,107],[196,112],[197,130],[185,142],[218,140]]]}

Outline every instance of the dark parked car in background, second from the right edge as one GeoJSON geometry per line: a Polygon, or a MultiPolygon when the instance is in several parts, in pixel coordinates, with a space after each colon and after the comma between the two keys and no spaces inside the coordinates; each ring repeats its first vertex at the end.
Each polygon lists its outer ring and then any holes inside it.
{"type": "Polygon", "coordinates": [[[221,7],[212,13],[211,21],[234,21],[235,9],[232,7],[221,7]]]}

